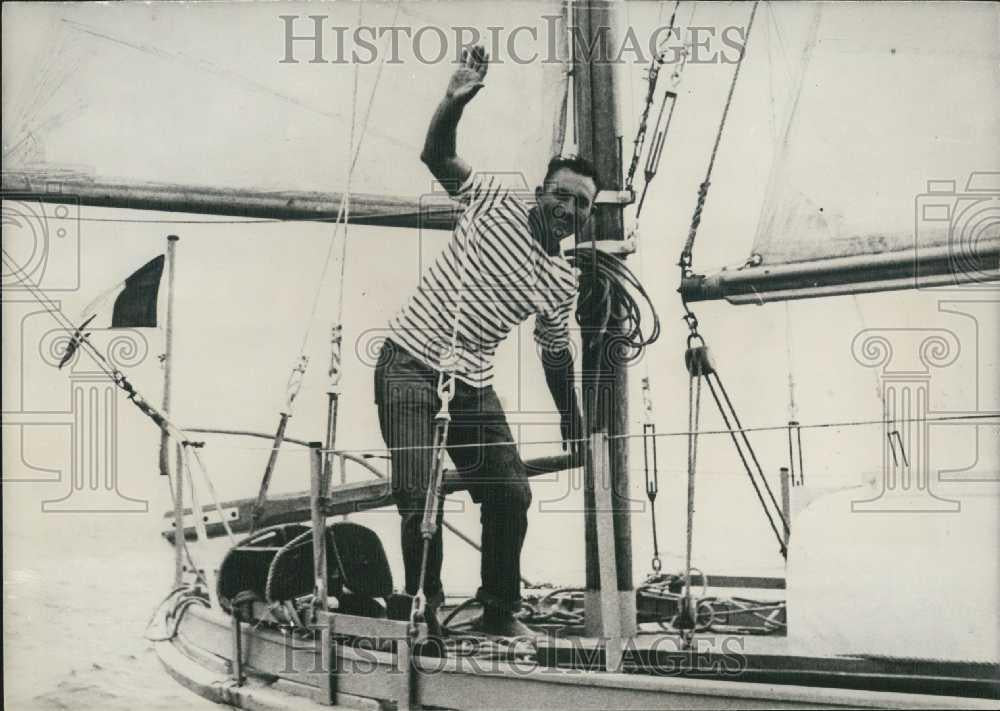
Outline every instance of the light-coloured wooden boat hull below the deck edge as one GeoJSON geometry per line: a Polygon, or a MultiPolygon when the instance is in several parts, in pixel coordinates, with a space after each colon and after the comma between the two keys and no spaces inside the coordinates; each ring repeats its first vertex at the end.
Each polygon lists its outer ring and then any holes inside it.
{"type": "MultiPolygon", "coordinates": [[[[414,660],[407,677],[396,655],[372,646],[333,645],[323,669],[319,642],[243,626],[246,681],[231,670],[231,620],[190,609],[177,634],[157,644],[171,675],[195,693],[245,709],[396,706],[409,679],[414,706],[453,709],[995,708],[995,699],[871,691],[835,686],[696,679],[543,667],[476,658],[414,660]]],[[[317,638],[318,639],[318,638],[317,638]]],[[[405,667],[405,665],[402,665],[405,667]]],[[[836,674],[830,674],[835,679],[836,674]]],[[[737,677],[734,677],[738,679],[737,677]]]]}

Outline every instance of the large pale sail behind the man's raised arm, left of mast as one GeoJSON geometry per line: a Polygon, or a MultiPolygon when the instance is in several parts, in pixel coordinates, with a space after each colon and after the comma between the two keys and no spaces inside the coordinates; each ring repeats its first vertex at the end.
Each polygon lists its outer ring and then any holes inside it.
{"type": "Polygon", "coordinates": [[[459,150],[534,185],[564,100],[561,11],[534,0],[8,5],[21,31],[3,48],[4,171],[341,191],[356,97],[352,191],[415,197],[431,187],[427,122],[478,33],[495,63],[459,150]],[[482,135],[492,131],[502,135],[482,135]]]}

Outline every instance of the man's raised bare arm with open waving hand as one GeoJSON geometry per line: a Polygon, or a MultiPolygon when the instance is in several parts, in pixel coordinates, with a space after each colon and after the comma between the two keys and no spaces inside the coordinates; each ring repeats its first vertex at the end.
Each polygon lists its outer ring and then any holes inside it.
{"type": "Polygon", "coordinates": [[[458,192],[472,172],[472,167],[458,157],[455,136],[465,105],[485,86],[483,79],[488,67],[489,55],[481,46],[477,45],[471,51],[462,50],[462,65],[452,75],[448,91],[438,104],[427,129],[420,160],[450,195],[458,192]]]}

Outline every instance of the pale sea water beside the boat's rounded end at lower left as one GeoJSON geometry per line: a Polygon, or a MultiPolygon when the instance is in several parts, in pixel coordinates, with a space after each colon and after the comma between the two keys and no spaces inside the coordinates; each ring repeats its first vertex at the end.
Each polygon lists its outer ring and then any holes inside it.
{"type": "Polygon", "coordinates": [[[5,521],[5,708],[218,708],[174,682],[143,637],[172,569],[169,548],[136,523],[48,525],[46,552],[37,529],[5,521]]]}

